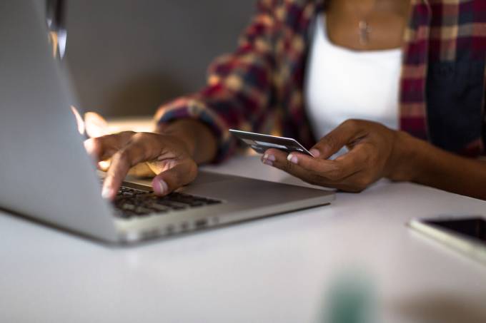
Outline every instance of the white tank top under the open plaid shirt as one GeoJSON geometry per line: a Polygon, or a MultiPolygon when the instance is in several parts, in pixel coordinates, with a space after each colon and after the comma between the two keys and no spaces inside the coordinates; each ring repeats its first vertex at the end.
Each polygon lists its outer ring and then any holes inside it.
{"type": "Polygon", "coordinates": [[[402,51],[352,51],[331,43],[319,16],[304,85],[307,116],[319,140],[350,118],[397,129],[402,51]]]}

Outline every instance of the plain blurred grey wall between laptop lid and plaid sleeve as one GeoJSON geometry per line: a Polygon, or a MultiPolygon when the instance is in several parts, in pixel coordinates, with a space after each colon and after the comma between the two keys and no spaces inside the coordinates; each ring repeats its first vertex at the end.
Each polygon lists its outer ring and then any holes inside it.
{"type": "Polygon", "coordinates": [[[81,108],[152,114],[204,86],[231,52],[255,0],[68,0],[66,62],[81,108]]]}

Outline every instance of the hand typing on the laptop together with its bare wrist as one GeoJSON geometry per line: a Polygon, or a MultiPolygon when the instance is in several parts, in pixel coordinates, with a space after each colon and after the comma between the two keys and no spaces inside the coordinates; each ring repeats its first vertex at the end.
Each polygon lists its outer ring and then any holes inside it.
{"type": "Polygon", "coordinates": [[[129,171],[156,175],[152,188],[157,195],[191,183],[197,164],[214,160],[217,138],[203,123],[181,119],[159,125],[157,133],[125,131],[88,139],[84,146],[94,160],[105,162],[98,163],[101,170],[107,170],[102,194],[113,200],[129,171]]]}

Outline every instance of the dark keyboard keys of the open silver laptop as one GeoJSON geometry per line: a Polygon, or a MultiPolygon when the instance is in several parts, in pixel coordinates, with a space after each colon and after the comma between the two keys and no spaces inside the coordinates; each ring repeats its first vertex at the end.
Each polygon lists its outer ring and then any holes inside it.
{"type": "Polygon", "coordinates": [[[122,218],[141,217],[152,214],[163,215],[174,210],[187,210],[193,207],[215,205],[222,201],[212,198],[173,192],[164,197],[153,192],[135,188],[120,188],[114,200],[116,216],[122,218]]]}

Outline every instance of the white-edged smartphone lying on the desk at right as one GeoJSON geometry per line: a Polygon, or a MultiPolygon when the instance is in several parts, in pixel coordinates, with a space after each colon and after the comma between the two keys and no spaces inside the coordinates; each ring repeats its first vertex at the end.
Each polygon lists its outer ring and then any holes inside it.
{"type": "Polygon", "coordinates": [[[408,225],[444,245],[486,265],[486,219],[471,217],[436,217],[414,219],[408,225]]]}

